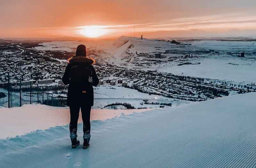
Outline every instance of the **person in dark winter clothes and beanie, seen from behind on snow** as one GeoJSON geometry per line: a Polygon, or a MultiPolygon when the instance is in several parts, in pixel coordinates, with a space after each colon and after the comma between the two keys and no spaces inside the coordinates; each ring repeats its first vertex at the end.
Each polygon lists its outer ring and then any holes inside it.
{"type": "Polygon", "coordinates": [[[68,85],[67,105],[70,109],[70,139],[72,148],[80,145],[77,140],[77,121],[81,108],[84,131],[84,146],[86,149],[90,146],[91,124],[90,113],[93,106],[93,87],[97,86],[99,79],[92,64],[95,61],[86,57],[86,47],[79,45],[76,49],[76,55],[69,59],[67,68],[62,77],[65,85],[68,85]]]}

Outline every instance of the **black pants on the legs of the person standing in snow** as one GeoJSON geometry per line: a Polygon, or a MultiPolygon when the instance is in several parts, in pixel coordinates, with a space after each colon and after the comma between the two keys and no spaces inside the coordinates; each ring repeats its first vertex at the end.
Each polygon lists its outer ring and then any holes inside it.
{"type": "MultiPolygon", "coordinates": [[[[83,119],[83,131],[84,133],[90,134],[91,132],[91,123],[90,123],[90,114],[91,114],[92,106],[82,106],[82,119],[83,119]]],[[[70,131],[70,138],[77,137],[77,121],[79,118],[79,106],[70,106],[70,123],[69,123],[69,131],[70,131]]]]}

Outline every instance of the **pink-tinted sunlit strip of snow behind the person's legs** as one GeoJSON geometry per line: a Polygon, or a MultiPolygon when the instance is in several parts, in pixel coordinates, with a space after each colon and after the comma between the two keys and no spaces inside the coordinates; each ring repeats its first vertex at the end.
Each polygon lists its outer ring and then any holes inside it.
{"type": "MultiPolygon", "coordinates": [[[[152,109],[134,110],[100,110],[91,111],[91,120],[106,120],[119,117],[122,113],[149,111],[152,109]]],[[[83,122],[81,111],[78,122],[83,122]]],[[[67,107],[51,107],[40,104],[25,104],[22,107],[0,108],[0,138],[14,137],[53,126],[69,124],[70,114],[67,107]]]]}

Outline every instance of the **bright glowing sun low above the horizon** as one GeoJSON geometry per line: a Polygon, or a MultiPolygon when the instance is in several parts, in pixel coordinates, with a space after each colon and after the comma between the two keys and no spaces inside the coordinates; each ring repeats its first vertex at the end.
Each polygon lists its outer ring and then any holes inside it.
{"type": "Polygon", "coordinates": [[[78,27],[77,32],[86,37],[97,38],[110,32],[105,26],[82,26],[78,27]]]}

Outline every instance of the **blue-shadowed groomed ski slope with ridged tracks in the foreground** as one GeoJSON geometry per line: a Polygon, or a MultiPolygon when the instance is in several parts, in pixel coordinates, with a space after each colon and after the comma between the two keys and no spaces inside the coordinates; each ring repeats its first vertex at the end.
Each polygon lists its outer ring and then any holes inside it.
{"type": "Polygon", "coordinates": [[[1,139],[0,167],[255,167],[255,99],[233,95],[92,121],[85,150],[71,149],[68,126],[1,139]]]}

